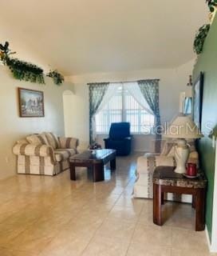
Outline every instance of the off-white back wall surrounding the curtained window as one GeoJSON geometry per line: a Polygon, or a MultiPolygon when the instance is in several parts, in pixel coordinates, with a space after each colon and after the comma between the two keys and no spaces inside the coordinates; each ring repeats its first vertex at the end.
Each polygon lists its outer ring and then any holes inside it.
{"type": "MultiPolygon", "coordinates": [[[[170,121],[179,113],[180,92],[187,90],[188,76],[191,74],[194,61],[187,62],[176,69],[137,70],[117,73],[85,74],[69,77],[73,82],[74,95],[68,108],[71,111],[67,135],[81,140],[81,149],[89,144],[89,90],[88,82],[123,82],[139,79],[160,78],[160,115],[161,122],[170,121]]],[[[99,141],[103,145],[102,136],[99,141]]],[[[152,151],[153,136],[135,135],[133,150],[152,151]]]]}

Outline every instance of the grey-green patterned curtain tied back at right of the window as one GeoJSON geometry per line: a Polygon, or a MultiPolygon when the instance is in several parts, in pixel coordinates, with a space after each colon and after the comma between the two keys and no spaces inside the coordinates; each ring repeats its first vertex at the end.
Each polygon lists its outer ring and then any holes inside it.
{"type": "Polygon", "coordinates": [[[160,108],[159,108],[159,80],[140,80],[138,81],[140,86],[140,91],[144,96],[148,106],[152,110],[156,117],[156,146],[155,150],[160,153],[160,143],[161,143],[161,127],[160,127],[160,108]]]}

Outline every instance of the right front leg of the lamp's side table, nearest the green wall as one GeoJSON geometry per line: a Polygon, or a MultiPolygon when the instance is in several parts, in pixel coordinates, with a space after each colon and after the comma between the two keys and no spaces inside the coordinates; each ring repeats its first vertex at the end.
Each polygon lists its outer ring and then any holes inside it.
{"type": "Polygon", "coordinates": [[[195,195],[195,230],[202,231],[205,229],[205,189],[197,189],[195,195]]]}

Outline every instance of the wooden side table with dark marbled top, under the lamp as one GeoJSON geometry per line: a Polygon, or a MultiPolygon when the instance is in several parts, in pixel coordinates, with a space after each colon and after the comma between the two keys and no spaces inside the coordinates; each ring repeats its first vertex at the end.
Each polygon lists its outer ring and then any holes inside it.
{"type": "Polygon", "coordinates": [[[199,178],[185,178],[176,174],[172,166],[158,166],[153,174],[153,222],[162,226],[161,205],[164,193],[192,194],[195,207],[195,230],[205,228],[205,198],[207,179],[201,173],[199,178]]]}

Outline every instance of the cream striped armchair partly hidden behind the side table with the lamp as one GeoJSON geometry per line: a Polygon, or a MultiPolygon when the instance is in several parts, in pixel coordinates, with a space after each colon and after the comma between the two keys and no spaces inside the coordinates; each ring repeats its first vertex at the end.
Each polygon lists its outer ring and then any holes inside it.
{"type": "MultiPolygon", "coordinates": [[[[152,175],[156,166],[176,166],[174,158],[175,143],[168,141],[162,142],[163,150],[161,154],[147,153],[137,158],[136,182],[134,185],[133,196],[135,198],[153,198],[152,175]]],[[[190,155],[187,162],[194,162],[199,165],[198,153],[195,150],[195,142],[188,142],[190,145],[190,155]]],[[[172,200],[172,194],[168,195],[172,200]]],[[[182,202],[191,202],[191,196],[182,196],[179,198],[182,202]]]]}

